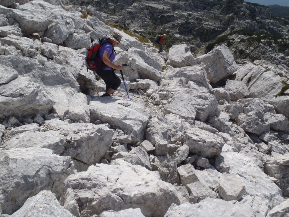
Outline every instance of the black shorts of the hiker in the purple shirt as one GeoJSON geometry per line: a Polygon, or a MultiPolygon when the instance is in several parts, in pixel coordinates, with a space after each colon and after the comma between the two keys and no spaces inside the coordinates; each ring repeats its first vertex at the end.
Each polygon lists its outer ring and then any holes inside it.
{"type": "Polygon", "coordinates": [[[114,73],[114,70],[103,70],[99,69],[95,71],[95,73],[104,80],[106,91],[111,88],[113,90],[117,90],[117,88],[121,84],[121,80],[117,75],[114,73]]]}

